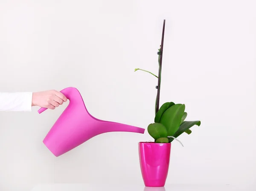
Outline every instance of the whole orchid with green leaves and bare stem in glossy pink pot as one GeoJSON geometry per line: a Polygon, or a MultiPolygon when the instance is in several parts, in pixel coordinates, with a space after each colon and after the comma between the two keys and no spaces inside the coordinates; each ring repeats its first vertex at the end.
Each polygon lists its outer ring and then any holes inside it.
{"type": "Polygon", "coordinates": [[[166,102],[159,109],[164,28],[165,20],[163,21],[162,42],[157,52],[158,76],[140,68],[135,69],[135,71],[148,72],[158,78],[154,123],[150,123],[147,128],[154,141],[139,143],[140,169],[147,187],[163,187],[165,185],[169,171],[172,141],[177,140],[177,137],[184,132],[191,134],[192,126],[201,125],[201,121],[185,121],[187,113],[184,104],[166,102]]]}

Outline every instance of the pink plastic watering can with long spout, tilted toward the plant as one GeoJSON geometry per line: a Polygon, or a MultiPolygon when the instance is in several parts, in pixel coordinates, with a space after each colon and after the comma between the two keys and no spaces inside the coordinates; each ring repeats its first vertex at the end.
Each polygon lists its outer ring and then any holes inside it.
{"type": "MultiPolygon", "coordinates": [[[[144,134],[144,128],[103,121],[93,117],[87,111],[83,98],[76,88],[65,88],[61,90],[61,93],[70,100],[70,103],[43,140],[43,143],[56,157],[99,134],[113,131],[144,134]]],[[[38,113],[41,114],[46,109],[40,108],[38,113]]]]}

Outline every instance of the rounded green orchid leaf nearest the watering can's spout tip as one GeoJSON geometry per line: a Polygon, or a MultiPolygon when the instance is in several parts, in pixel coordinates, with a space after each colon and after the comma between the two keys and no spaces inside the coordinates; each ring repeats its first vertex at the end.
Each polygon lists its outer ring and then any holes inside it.
{"type": "Polygon", "coordinates": [[[167,137],[166,127],[161,123],[151,123],[148,125],[148,133],[154,140],[161,137],[167,137]]]}

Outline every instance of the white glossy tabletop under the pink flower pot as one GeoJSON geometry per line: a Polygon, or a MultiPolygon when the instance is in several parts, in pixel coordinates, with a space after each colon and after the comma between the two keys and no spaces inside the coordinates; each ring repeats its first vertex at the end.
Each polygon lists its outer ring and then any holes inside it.
{"type": "MultiPolygon", "coordinates": [[[[31,191],[244,191],[232,185],[165,185],[145,187],[144,185],[105,184],[42,184],[31,191]]],[[[249,191],[249,190],[246,190],[249,191]]]]}

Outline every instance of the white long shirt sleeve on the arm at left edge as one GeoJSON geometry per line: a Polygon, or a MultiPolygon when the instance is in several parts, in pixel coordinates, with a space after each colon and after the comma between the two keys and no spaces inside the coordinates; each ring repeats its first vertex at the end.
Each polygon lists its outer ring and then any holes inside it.
{"type": "Polygon", "coordinates": [[[32,92],[0,92],[0,111],[31,111],[32,92]]]}

